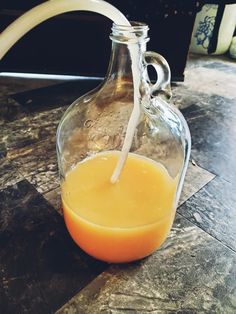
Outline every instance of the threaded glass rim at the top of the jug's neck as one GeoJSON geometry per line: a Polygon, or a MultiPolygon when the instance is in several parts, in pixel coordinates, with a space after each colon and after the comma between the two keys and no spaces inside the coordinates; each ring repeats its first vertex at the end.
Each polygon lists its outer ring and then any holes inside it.
{"type": "Polygon", "coordinates": [[[131,21],[131,25],[117,25],[113,23],[110,39],[119,43],[148,42],[149,27],[145,23],[131,21]]]}

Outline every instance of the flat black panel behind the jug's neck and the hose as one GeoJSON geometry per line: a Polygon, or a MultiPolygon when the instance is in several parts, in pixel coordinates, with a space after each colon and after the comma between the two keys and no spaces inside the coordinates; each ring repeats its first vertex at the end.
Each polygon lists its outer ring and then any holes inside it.
{"type": "MultiPolygon", "coordinates": [[[[0,32],[41,0],[5,0],[0,32]]],[[[183,80],[197,0],[110,0],[129,20],[149,25],[148,50],[162,54],[173,80],[183,80]]],[[[54,17],[26,34],[0,61],[0,71],[101,76],[106,73],[111,21],[88,12],[54,17]]]]}

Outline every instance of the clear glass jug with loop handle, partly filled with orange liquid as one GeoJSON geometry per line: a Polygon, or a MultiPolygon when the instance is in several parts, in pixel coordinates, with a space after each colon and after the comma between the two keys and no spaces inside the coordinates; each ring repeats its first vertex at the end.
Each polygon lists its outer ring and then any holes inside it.
{"type": "Polygon", "coordinates": [[[66,226],[85,252],[107,262],[141,259],[161,246],[175,217],[189,160],[188,126],[167,102],[169,66],[159,54],[146,52],[147,33],[145,24],[113,24],[104,82],[67,109],[57,131],[66,226]],[[112,185],[108,177],[119,158],[134,103],[131,46],[136,47],[139,67],[141,114],[129,158],[112,185]],[[148,66],[157,72],[154,84],[148,66]],[[136,166],[141,170],[136,172],[136,166]],[[103,187],[97,185],[100,179],[106,181],[103,187]]]}

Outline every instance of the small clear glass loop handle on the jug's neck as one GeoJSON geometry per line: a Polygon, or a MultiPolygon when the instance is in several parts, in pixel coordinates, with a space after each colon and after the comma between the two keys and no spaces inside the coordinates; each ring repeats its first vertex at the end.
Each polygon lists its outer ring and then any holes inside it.
{"type": "Polygon", "coordinates": [[[164,96],[167,100],[172,97],[171,87],[170,87],[170,67],[166,59],[160,54],[153,51],[146,51],[143,54],[144,66],[146,69],[147,82],[150,87],[150,93],[152,96],[164,96]],[[154,67],[157,73],[157,80],[154,84],[148,75],[147,67],[151,65],[154,67]]]}

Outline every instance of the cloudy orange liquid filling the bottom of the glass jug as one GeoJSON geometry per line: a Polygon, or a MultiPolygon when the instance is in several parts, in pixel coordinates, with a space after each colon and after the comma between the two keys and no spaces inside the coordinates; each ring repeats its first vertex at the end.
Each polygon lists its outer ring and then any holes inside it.
{"type": "Polygon", "coordinates": [[[91,256],[128,262],[155,251],[175,215],[177,180],[159,163],[129,153],[119,180],[110,178],[119,152],[104,152],[78,163],[62,184],[66,226],[91,256]]]}

